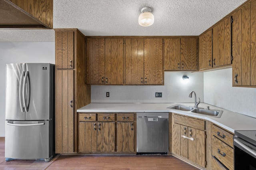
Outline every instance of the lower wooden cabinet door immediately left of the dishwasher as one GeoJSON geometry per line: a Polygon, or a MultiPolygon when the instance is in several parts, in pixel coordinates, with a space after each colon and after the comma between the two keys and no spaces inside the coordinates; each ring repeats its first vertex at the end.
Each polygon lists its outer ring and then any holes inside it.
{"type": "Polygon", "coordinates": [[[134,122],[117,123],[117,152],[134,152],[134,122]]]}

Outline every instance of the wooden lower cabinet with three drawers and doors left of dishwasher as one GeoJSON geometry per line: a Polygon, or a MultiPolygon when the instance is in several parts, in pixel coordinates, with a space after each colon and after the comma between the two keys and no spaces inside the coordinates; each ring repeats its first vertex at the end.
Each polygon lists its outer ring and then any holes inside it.
{"type": "Polygon", "coordinates": [[[78,152],[135,153],[134,113],[79,113],[78,126],[78,152]]]}

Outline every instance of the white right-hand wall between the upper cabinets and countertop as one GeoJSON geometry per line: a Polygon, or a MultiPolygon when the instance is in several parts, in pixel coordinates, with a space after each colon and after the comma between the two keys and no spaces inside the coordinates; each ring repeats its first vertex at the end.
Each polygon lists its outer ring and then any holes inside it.
{"type": "Polygon", "coordinates": [[[204,102],[256,117],[256,88],[232,87],[232,68],[204,72],[204,102]]]}

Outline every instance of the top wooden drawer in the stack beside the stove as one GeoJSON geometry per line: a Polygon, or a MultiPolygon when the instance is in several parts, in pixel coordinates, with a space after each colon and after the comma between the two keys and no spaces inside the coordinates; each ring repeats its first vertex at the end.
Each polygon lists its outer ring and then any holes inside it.
{"type": "Polygon", "coordinates": [[[212,135],[214,135],[216,138],[222,140],[226,144],[228,144],[231,147],[233,146],[233,138],[234,135],[216,125],[212,125],[212,135]]]}

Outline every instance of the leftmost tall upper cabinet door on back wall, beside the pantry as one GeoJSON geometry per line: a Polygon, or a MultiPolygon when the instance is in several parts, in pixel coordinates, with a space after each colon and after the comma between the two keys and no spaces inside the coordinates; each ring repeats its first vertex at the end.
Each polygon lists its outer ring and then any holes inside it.
{"type": "Polygon", "coordinates": [[[105,39],[86,39],[86,83],[105,84],[105,39]]]}

